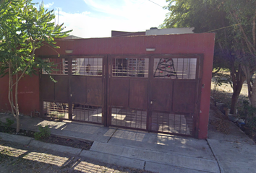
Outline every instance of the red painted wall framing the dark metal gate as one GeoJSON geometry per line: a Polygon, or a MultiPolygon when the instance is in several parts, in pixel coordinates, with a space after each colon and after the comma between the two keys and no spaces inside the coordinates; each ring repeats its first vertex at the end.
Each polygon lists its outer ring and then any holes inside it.
{"type": "MultiPolygon", "coordinates": [[[[61,56],[67,56],[65,50],[73,50],[72,56],[81,55],[106,55],[106,54],[179,54],[179,53],[202,53],[204,54],[202,84],[205,87],[201,93],[199,138],[207,138],[208,119],[210,108],[210,81],[213,68],[214,33],[183,34],[183,35],[148,35],[132,37],[107,37],[76,40],[57,40],[56,49],[61,56]],[[155,52],[146,52],[146,48],[155,48],[155,52]]],[[[50,56],[57,53],[48,47],[40,48],[37,55],[50,56]]],[[[5,83],[0,79],[0,84],[5,83]]],[[[28,92],[20,94],[20,109],[24,112],[39,110],[39,81],[38,76],[22,80],[22,89],[28,92]],[[26,88],[27,87],[27,88],[26,88]],[[31,100],[30,100],[31,99],[31,100]],[[31,106],[32,105],[32,106],[31,106]]],[[[23,90],[20,89],[21,92],[23,90]]],[[[4,94],[6,86],[0,86],[0,109],[5,107],[7,98],[4,94]],[[4,100],[4,101],[2,101],[4,100]]],[[[6,107],[7,108],[7,107],[6,107]]],[[[21,112],[22,112],[21,111],[21,112]]]]}

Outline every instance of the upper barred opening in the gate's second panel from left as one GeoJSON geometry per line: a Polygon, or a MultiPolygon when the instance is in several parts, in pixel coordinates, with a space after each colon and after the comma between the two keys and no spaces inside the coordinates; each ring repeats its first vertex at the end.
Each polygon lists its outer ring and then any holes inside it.
{"type": "Polygon", "coordinates": [[[103,58],[73,58],[72,75],[102,76],[103,58]]]}

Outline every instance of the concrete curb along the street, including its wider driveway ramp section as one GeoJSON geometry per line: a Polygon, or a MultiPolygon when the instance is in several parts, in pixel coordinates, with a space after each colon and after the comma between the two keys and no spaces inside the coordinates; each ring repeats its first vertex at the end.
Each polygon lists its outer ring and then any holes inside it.
{"type": "Polygon", "coordinates": [[[176,154],[163,154],[157,151],[118,146],[111,143],[101,143],[95,141],[93,146],[90,148],[90,151],[88,151],[70,146],[61,146],[52,143],[35,141],[33,138],[8,133],[0,133],[0,138],[2,138],[4,141],[21,143],[22,145],[33,146],[35,148],[45,148],[52,151],[84,156],[85,158],[95,159],[107,164],[145,169],[153,172],[168,172],[168,170],[184,173],[218,172],[216,167],[217,163],[213,160],[179,156],[176,154]]]}

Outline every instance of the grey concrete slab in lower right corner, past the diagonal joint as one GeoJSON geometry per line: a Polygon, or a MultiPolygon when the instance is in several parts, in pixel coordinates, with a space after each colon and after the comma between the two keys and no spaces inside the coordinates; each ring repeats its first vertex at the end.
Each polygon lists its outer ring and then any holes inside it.
{"type": "MultiPolygon", "coordinates": [[[[216,120],[219,110],[210,110],[210,120],[216,120]]],[[[209,125],[208,143],[216,156],[221,172],[256,172],[256,146],[240,128],[229,120],[229,135],[212,130],[209,125]]]]}

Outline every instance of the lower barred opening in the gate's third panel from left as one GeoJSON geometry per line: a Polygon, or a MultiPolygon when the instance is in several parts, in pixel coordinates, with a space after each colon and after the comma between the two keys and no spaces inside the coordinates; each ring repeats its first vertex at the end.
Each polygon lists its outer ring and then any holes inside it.
{"type": "Polygon", "coordinates": [[[147,128],[147,112],[113,107],[111,110],[111,125],[127,128],[147,128]]]}

